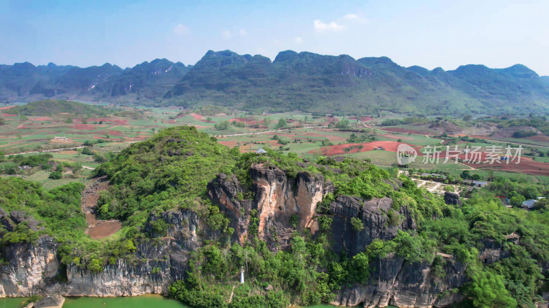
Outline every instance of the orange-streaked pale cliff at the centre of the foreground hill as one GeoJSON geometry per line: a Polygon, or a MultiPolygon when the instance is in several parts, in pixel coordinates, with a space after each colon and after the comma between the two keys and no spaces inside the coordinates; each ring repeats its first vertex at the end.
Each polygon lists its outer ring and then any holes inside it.
{"type": "Polygon", "coordinates": [[[244,242],[252,209],[259,216],[259,236],[271,250],[288,247],[290,235],[296,230],[318,230],[314,220],[316,205],[333,190],[331,183],[325,184],[322,177],[316,178],[309,172],[288,178],[279,168],[261,165],[252,166],[250,177],[250,188],[224,174],[208,184],[209,198],[231,219],[233,240],[244,242]]]}

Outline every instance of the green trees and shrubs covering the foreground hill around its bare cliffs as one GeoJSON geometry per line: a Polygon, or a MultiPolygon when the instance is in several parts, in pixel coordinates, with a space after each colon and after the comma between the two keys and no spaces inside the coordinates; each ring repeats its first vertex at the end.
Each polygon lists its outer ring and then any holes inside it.
{"type": "MultiPolygon", "coordinates": [[[[362,136],[362,135],[360,135],[362,136]]],[[[354,138],[362,138],[356,136],[354,138]]],[[[273,137],[274,138],[274,137],[273,137]]],[[[93,153],[92,153],[93,154],[93,153]]],[[[50,166],[62,172],[65,166],[50,165],[47,155],[15,157],[17,166],[50,166]]],[[[52,172],[52,174],[54,173],[52,172]]],[[[43,230],[33,231],[21,222],[8,232],[0,229],[3,244],[32,242],[49,233],[59,242],[63,264],[75,264],[100,272],[106,264],[124,258],[137,263],[137,246],[158,243],[167,231],[162,219],[152,223],[154,232],[145,233],[151,212],[189,209],[198,214],[205,230],[215,236],[191,252],[187,277],[170,286],[170,294],[195,307],[286,307],[290,303],[314,305],[329,302],[344,285],[371,283],[379,259],[394,255],[408,264],[432,263],[432,274],[443,279],[445,259],[436,253],[452,255],[465,264],[467,283],[460,287],[465,304],[475,307],[530,307],[546,287],[545,264],[549,262],[549,208],[540,201],[533,211],[507,208],[495,196],[520,201],[548,196],[541,184],[517,183],[495,179],[486,188],[474,190],[463,206],[446,205],[443,198],[425,188],[417,188],[409,178],[398,175],[397,168],[385,170],[368,162],[345,159],[342,162],[320,157],[305,163],[295,153],[283,155],[268,150],[265,155],[240,153],[199,133],[194,127],[174,127],[157,133],[145,142],[132,144],[95,170],[106,176],[110,188],[100,196],[100,218],[117,218],[124,228],[111,240],[99,242],[84,235],[86,222],[80,211],[80,183],[46,191],[35,183],[10,177],[0,178],[0,207],[22,210],[42,221],[43,230]],[[219,172],[235,175],[241,185],[250,187],[250,166],[276,166],[292,179],[299,172],[323,175],[335,190],[318,205],[320,230],[295,232],[290,248],[270,251],[258,236],[259,214],[251,211],[249,231],[243,245],[231,242],[229,219],[209,201],[206,186],[219,172]],[[407,207],[417,229],[399,231],[392,240],[374,240],[356,255],[336,253],[331,238],[329,205],[340,195],[360,198],[393,198],[386,213],[388,226],[401,222],[399,210],[407,207]],[[516,233],[518,242],[506,235],[516,233]],[[500,247],[506,257],[493,263],[479,258],[487,246],[500,247]],[[246,283],[235,287],[240,268],[246,269],[246,283]]],[[[253,198],[248,192],[239,200],[253,198]]],[[[353,231],[364,229],[362,220],[350,220],[353,231]]],[[[201,226],[202,228],[202,226],[201,226]]],[[[441,294],[442,295],[442,294],[441,294]]]]}

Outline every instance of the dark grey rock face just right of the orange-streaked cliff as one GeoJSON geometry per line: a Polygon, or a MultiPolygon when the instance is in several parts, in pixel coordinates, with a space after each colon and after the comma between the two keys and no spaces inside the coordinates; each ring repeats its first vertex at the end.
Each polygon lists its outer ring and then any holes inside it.
{"type": "Polygon", "coordinates": [[[330,205],[330,211],[334,213],[331,234],[336,252],[344,250],[353,256],[364,251],[373,240],[392,240],[399,229],[416,229],[416,223],[405,206],[399,209],[400,221],[397,224],[390,222],[388,213],[395,211],[391,209],[392,205],[391,198],[364,201],[353,196],[338,196],[330,205]],[[355,231],[351,218],[362,220],[364,229],[355,231]]]}

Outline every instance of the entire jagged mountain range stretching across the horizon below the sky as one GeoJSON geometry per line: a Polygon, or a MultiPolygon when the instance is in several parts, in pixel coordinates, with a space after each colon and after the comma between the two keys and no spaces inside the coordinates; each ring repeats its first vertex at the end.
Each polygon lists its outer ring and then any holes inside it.
{"type": "Polygon", "coordinates": [[[526,66],[456,70],[399,66],[388,57],[208,51],[194,66],[156,59],[111,64],[0,65],[0,101],[87,99],[117,104],[221,105],[241,110],[409,114],[549,112],[549,77],[526,66]]]}

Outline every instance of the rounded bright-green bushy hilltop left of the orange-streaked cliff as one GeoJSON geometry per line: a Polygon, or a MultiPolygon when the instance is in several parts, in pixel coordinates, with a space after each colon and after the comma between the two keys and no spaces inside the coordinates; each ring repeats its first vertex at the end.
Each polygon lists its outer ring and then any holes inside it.
{"type": "Polygon", "coordinates": [[[98,214],[105,219],[132,216],[143,223],[151,210],[186,207],[207,211],[207,206],[197,208],[196,198],[220,170],[231,168],[238,155],[235,150],[194,127],[165,129],[132,144],[96,169],[97,175],[107,175],[113,184],[102,194],[98,214]]]}

